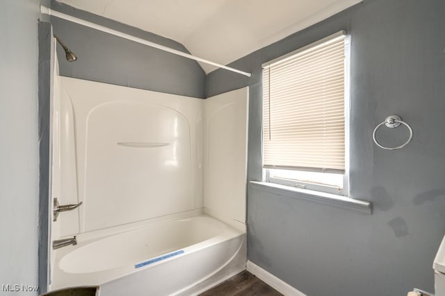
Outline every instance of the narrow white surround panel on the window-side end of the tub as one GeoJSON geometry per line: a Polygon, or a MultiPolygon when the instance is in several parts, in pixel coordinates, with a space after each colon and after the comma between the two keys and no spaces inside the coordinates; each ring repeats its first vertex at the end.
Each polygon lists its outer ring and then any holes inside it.
{"type": "Polygon", "coordinates": [[[204,205],[245,229],[248,87],[207,98],[204,104],[204,205]]]}

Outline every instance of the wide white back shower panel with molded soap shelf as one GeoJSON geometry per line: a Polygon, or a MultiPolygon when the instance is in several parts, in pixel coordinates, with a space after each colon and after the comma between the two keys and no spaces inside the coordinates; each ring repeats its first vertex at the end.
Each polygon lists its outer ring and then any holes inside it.
{"type": "Polygon", "coordinates": [[[65,77],[60,88],[54,168],[71,175],[59,202],[83,202],[59,215],[62,236],[203,206],[202,100],[65,77]]]}

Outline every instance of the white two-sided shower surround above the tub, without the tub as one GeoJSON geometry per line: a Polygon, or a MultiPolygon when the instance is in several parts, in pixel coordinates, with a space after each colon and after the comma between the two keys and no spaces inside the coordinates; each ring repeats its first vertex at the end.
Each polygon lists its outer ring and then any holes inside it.
{"type": "Polygon", "coordinates": [[[203,207],[245,230],[247,87],[200,100],[58,82],[54,197],[83,204],[59,214],[53,239],[203,207]]]}

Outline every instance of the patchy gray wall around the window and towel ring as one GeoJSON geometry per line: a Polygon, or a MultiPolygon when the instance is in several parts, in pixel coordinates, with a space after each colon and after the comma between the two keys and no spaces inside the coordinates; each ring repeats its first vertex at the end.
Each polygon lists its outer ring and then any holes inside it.
{"type": "MultiPolygon", "coordinates": [[[[365,0],[218,70],[207,96],[250,86],[248,179],[261,180],[261,63],[345,29],[352,37],[350,193],[371,216],[248,189],[248,259],[311,296],[433,291],[445,234],[445,1],[365,0]],[[375,146],[390,114],[410,123],[401,150],[375,146]],[[405,138],[406,139],[406,138],[405,138]]],[[[403,128],[386,130],[395,145],[403,128]]]]}

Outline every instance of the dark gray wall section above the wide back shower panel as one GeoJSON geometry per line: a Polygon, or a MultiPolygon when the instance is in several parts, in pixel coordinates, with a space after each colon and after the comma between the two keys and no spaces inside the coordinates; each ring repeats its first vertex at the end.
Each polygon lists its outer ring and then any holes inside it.
{"type": "MultiPolygon", "coordinates": [[[[51,9],[188,53],[182,44],[173,40],[56,1],[51,1],[51,9]]],[[[206,76],[194,60],[57,17],[51,17],[51,24],[54,33],[78,57],[76,62],[67,62],[63,49],[58,46],[61,76],[205,98],[206,76]]]]}

